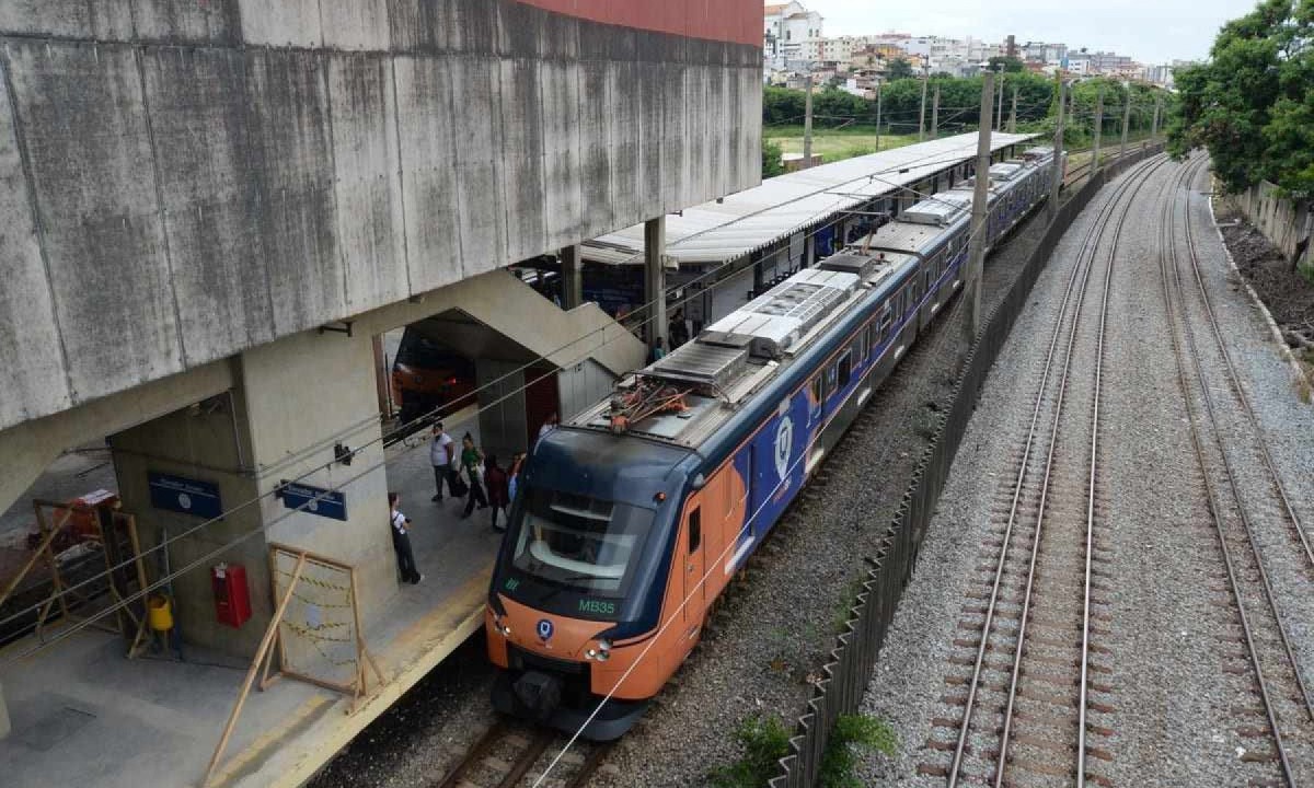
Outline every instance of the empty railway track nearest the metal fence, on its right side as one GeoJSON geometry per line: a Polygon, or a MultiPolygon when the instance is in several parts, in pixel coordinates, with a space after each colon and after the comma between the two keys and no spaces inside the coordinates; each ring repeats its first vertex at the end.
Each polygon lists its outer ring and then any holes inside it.
{"type": "MultiPolygon", "coordinates": [[[[1013,483],[992,511],[996,540],[988,546],[997,554],[980,566],[988,590],[972,594],[959,623],[964,634],[954,641],[945,700],[963,713],[934,720],[928,742],[950,762],[918,767],[943,775],[950,788],[1083,785],[1097,772],[1088,756],[1110,756],[1101,742],[1087,741],[1110,733],[1088,712],[1112,711],[1100,679],[1110,672],[1110,651],[1099,642],[1110,619],[1097,473],[1104,330],[1118,235],[1133,198],[1163,163],[1150,159],[1116,186],[1067,281],[1031,419],[1014,450],[1013,483]],[[1097,311],[1083,319],[1088,307],[1097,311]]],[[[1093,781],[1106,783],[1099,774],[1093,781]]]]}

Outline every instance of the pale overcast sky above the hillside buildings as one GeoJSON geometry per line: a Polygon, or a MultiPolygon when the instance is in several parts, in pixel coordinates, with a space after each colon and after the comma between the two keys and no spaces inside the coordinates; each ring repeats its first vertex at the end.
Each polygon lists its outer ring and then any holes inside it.
{"type": "Polygon", "coordinates": [[[827,35],[911,33],[972,35],[989,42],[1009,33],[1018,43],[1063,42],[1091,51],[1116,51],[1141,63],[1202,59],[1227,20],[1246,14],[1257,0],[800,0],[825,17],[827,35]]]}

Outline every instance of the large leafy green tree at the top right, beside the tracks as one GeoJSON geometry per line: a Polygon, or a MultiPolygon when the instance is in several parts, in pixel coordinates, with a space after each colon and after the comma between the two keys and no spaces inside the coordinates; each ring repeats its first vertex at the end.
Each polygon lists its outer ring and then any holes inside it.
{"type": "Polygon", "coordinates": [[[1263,0],[1223,25],[1208,63],[1173,72],[1177,158],[1204,147],[1227,192],[1314,192],[1314,0],[1263,0]]]}

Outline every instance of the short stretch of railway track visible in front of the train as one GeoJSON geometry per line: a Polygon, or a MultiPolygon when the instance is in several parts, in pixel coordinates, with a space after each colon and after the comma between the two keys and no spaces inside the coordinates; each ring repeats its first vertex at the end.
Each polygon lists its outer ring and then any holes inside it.
{"type": "Polygon", "coordinates": [[[566,737],[501,720],[489,728],[434,788],[582,788],[602,766],[610,743],[578,739],[545,777],[566,737]]]}

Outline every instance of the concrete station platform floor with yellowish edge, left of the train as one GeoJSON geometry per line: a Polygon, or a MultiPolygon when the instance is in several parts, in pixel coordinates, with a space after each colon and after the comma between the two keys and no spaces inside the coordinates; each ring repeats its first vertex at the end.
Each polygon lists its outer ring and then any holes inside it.
{"type": "MultiPolygon", "coordinates": [[[[477,437],[477,419],[449,426],[456,436],[477,437]]],[[[292,679],[252,690],[210,785],[300,785],[481,626],[502,535],[491,531],[487,510],[461,519],[464,500],[430,502],[427,444],[398,444],[388,456],[389,486],[413,520],[424,574],[419,586],[398,586],[390,615],[367,629],[388,683],[378,688],[371,679],[372,695],[355,713],[350,697],[292,679]]],[[[47,628],[46,636],[58,632],[47,628]]],[[[248,663],[185,646],[185,662],[129,661],[120,636],[89,628],[9,663],[33,638],[0,650],[0,697],[13,726],[0,738],[5,785],[201,785],[248,663]]]]}

